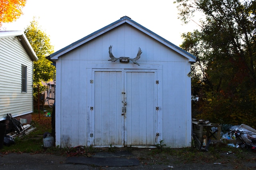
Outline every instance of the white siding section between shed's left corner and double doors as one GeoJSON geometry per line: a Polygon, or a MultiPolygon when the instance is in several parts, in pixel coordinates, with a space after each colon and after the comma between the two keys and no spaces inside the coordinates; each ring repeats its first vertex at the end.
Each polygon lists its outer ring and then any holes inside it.
{"type": "Polygon", "coordinates": [[[85,146],[89,140],[87,123],[91,117],[90,112],[86,112],[87,100],[91,100],[86,98],[86,83],[90,81],[86,78],[86,64],[79,60],[60,62],[60,66],[56,64],[56,75],[62,75],[56,78],[56,145],[85,146]]]}

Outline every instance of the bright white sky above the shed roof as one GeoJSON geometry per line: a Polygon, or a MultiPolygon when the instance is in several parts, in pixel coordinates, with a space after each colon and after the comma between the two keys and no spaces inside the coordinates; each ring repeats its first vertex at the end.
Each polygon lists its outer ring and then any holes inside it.
{"type": "Polygon", "coordinates": [[[23,15],[1,30],[24,31],[36,17],[40,29],[48,35],[54,51],[128,16],[150,31],[179,46],[180,35],[194,29],[178,19],[173,0],[27,0],[23,15]]]}

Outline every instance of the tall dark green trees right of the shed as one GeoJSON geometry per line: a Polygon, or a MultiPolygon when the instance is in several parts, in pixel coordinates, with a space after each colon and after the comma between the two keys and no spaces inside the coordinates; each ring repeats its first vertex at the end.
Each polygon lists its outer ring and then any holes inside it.
{"type": "Polygon", "coordinates": [[[192,113],[216,123],[256,127],[255,0],[176,0],[180,19],[205,16],[201,29],[184,33],[192,65],[192,113]]]}

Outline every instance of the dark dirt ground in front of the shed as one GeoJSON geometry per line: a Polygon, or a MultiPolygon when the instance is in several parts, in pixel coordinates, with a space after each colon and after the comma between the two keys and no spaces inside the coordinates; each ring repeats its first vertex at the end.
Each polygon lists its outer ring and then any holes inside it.
{"type": "MultiPolygon", "coordinates": [[[[120,149],[118,149],[120,150],[120,149]]],[[[116,151],[118,151],[116,150],[116,151]]],[[[190,149],[170,149],[160,152],[158,149],[130,149],[127,158],[137,158],[138,166],[94,166],[85,164],[67,164],[65,154],[0,153],[0,169],[14,170],[255,170],[256,153],[241,150],[214,150],[210,152],[190,149]]],[[[98,150],[97,152],[107,152],[98,150]]],[[[76,155],[86,156],[86,155],[76,155]]],[[[87,155],[88,156],[88,155],[87,155]]]]}

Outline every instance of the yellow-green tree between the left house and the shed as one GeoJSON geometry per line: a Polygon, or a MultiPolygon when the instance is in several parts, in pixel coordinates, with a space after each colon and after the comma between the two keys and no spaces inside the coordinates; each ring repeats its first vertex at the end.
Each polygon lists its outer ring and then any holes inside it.
{"type": "MultiPolygon", "coordinates": [[[[41,81],[52,80],[55,75],[55,66],[46,57],[54,52],[54,47],[50,45],[50,38],[40,29],[38,22],[30,22],[30,25],[24,31],[28,41],[34,49],[38,61],[34,62],[34,95],[38,93],[36,86],[42,86],[41,81]]],[[[44,88],[41,87],[43,90],[44,88]]]]}

